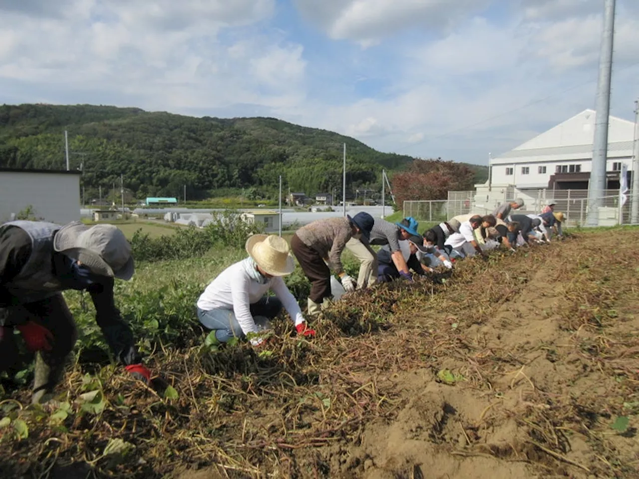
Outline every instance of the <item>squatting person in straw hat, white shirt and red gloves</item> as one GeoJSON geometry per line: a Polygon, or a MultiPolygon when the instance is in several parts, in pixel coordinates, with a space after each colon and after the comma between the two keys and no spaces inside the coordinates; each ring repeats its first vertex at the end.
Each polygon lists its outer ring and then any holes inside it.
{"type": "MultiPolygon", "coordinates": [[[[197,317],[206,328],[215,331],[219,342],[259,334],[270,328],[282,305],[295,321],[298,335],[314,337],[283,276],[293,273],[295,264],[286,239],[275,235],[254,234],[246,242],[249,257],[232,264],[215,278],[197,300],[197,317]],[[266,296],[269,290],[275,297],[266,296]]],[[[252,337],[260,346],[264,337],[252,337]]]]}

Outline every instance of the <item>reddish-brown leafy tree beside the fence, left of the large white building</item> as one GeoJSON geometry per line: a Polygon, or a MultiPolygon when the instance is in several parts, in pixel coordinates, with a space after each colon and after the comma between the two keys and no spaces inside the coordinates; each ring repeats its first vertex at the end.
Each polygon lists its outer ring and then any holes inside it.
{"type": "Polygon", "coordinates": [[[449,191],[473,189],[473,171],[466,165],[436,160],[415,160],[404,172],[392,178],[399,208],[407,200],[447,199],[449,191]]]}

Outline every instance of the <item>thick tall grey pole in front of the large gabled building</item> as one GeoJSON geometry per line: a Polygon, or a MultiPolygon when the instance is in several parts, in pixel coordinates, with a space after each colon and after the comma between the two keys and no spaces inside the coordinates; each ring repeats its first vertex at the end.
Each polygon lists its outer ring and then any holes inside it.
{"type": "Polygon", "coordinates": [[[588,185],[588,214],[586,224],[599,224],[599,206],[606,189],[606,160],[608,159],[608,115],[610,114],[610,79],[612,76],[612,49],[615,36],[615,0],[605,0],[601,52],[599,53],[599,80],[597,81],[596,123],[592,144],[592,171],[588,185]]]}

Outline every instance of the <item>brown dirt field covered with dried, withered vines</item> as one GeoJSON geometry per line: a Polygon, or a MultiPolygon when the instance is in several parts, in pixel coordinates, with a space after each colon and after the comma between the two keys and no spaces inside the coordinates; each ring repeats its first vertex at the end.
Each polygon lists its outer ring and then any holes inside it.
{"type": "MultiPolygon", "coordinates": [[[[3,461],[13,476],[639,478],[638,243],[583,232],[356,293],[314,342],[282,321],[260,356],[166,349],[153,359],[179,399],[108,374],[101,416],[35,426],[3,461]],[[113,438],[135,452],[109,462],[113,438]]],[[[77,368],[66,386],[81,384],[77,368]]]]}

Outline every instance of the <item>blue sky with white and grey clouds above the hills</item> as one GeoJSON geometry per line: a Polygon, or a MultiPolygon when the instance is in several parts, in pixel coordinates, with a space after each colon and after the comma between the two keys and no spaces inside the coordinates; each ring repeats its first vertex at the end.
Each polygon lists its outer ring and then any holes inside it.
{"type": "MultiPolygon", "coordinates": [[[[0,0],[0,102],[272,116],[486,163],[594,107],[603,0],[0,0]]],[[[612,114],[639,97],[617,0],[612,114]]]]}

